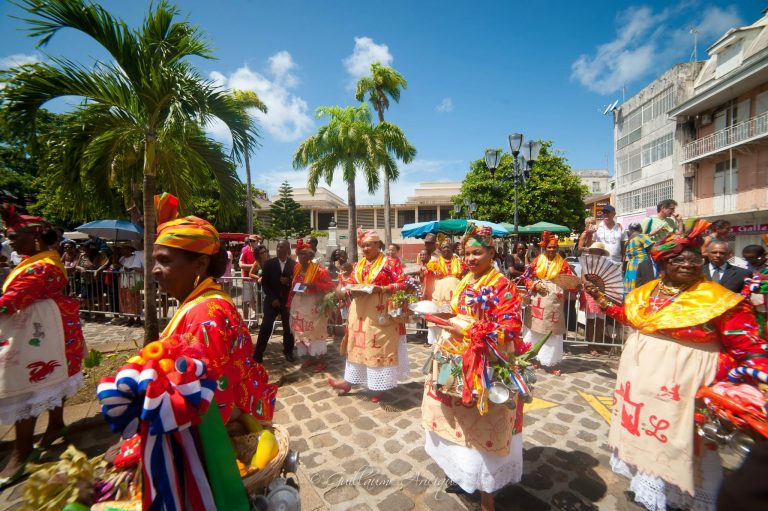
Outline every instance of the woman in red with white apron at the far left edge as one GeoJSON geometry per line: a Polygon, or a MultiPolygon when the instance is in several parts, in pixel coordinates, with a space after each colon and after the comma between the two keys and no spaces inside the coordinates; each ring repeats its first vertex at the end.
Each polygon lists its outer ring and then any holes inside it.
{"type": "Polygon", "coordinates": [[[63,403],[83,384],[85,343],[77,298],[64,295],[67,271],[48,250],[56,233],[41,217],[0,211],[13,249],[22,256],[0,296],[0,423],[14,424],[16,441],[0,472],[0,486],[15,483],[41,449],[66,434],[63,403]],[[33,446],[37,417],[50,410],[48,427],[33,446]]]}

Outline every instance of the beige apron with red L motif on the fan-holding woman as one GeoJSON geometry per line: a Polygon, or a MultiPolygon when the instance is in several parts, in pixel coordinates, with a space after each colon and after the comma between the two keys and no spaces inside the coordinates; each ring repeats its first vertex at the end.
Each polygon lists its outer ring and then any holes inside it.
{"type": "Polygon", "coordinates": [[[632,332],[624,347],[608,437],[640,472],[694,494],[696,391],[712,382],[719,346],[632,332]]]}

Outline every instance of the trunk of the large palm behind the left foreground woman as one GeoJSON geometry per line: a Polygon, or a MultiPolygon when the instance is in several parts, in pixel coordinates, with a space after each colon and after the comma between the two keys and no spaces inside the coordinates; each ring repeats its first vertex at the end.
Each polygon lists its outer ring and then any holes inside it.
{"type": "Polygon", "coordinates": [[[155,135],[144,142],[144,344],[157,340],[157,303],[152,267],[155,258],[155,135]]]}

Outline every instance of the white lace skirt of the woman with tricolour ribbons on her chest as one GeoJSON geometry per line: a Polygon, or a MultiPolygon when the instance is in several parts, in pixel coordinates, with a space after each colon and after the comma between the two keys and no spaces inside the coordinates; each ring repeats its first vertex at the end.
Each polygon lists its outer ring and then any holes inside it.
{"type": "Polygon", "coordinates": [[[512,435],[507,456],[496,456],[445,440],[427,431],[424,450],[445,476],[467,493],[491,493],[523,477],[523,435],[512,435]]]}

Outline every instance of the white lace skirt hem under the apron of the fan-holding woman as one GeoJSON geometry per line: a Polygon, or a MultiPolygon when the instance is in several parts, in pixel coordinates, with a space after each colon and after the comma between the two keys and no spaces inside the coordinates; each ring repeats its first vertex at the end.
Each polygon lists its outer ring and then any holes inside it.
{"type": "Polygon", "coordinates": [[[635,494],[635,502],[649,511],[666,511],[667,507],[715,511],[717,492],[723,480],[723,467],[717,451],[706,448],[702,448],[702,451],[701,457],[697,458],[697,470],[700,473],[696,478],[696,495],[693,496],[659,477],[638,472],[634,466],[621,461],[615,452],[611,454],[611,469],[630,479],[629,491],[635,494]]]}

